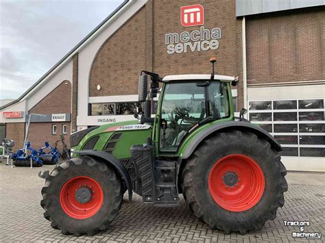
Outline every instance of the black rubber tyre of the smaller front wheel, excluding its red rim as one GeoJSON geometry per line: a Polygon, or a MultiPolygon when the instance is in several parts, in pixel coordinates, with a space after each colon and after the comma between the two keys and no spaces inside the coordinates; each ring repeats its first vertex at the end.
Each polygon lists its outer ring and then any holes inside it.
{"type": "Polygon", "coordinates": [[[42,188],[43,200],[40,205],[45,209],[44,217],[51,221],[51,227],[60,229],[64,234],[80,236],[94,235],[107,229],[117,216],[123,199],[121,178],[114,169],[91,157],[75,157],[64,161],[47,177],[42,188]],[[64,212],[60,204],[60,191],[70,179],[78,176],[90,177],[97,181],[104,195],[99,211],[85,219],[72,218],[64,212]]]}

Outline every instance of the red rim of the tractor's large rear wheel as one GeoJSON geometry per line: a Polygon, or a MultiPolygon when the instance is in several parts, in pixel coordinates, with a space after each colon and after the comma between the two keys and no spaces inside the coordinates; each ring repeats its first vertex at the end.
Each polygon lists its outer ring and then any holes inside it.
{"type": "Polygon", "coordinates": [[[210,170],[208,190],[220,207],[243,212],[254,207],[263,196],[263,170],[251,157],[227,155],[210,170]]]}

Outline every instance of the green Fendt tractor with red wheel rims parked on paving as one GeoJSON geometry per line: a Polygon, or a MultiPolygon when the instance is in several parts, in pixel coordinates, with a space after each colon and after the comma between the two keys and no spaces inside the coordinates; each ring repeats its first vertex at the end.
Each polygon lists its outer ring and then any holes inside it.
{"type": "Polygon", "coordinates": [[[107,229],[125,192],[156,207],[177,207],[182,194],[197,218],[225,233],[276,218],[288,188],[282,148],[243,118],[246,110],[234,116],[239,80],[215,75],[210,62],[210,75],[141,71],[137,120],[71,134],[72,158],[43,174],[40,204],[51,227],[76,236],[107,229]]]}

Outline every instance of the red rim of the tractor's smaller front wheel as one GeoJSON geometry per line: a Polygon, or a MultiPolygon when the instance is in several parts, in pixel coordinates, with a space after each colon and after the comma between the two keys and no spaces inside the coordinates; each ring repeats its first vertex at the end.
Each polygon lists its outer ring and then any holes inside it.
{"type": "Polygon", "coordinates": [[[99,183],[91,177],[73,177],[64,185],[60,191],[60,205],[63,211],[72,218],[84,219],[95,215],[103,204],[103,190],[99,183]],[[82,197],[82,192],[86,191],[86,196],[82,197]],[[78,198],[78,200],[77,200],[78,198]]]}

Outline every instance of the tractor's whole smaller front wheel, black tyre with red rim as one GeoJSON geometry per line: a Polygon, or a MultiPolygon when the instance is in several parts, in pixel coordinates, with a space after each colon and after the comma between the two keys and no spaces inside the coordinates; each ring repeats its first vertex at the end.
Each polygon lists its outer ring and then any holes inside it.
{"type": "Polygon", "coordinates": [[[94,235],[117,216],[122,190],[115,170],[91,157],[75,157],[47,177],[40,205],[54,229],[75,236],[94,235]]]}

